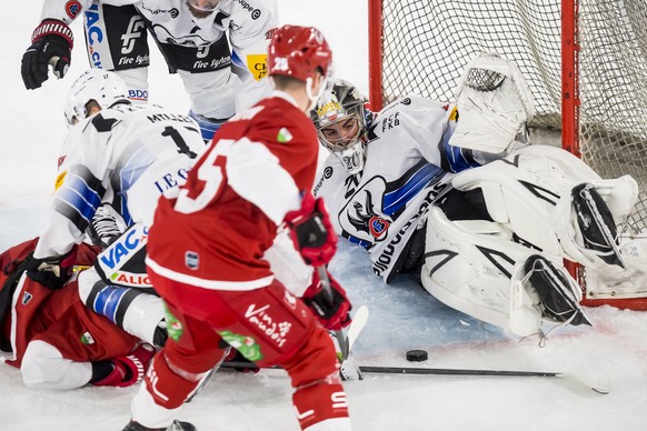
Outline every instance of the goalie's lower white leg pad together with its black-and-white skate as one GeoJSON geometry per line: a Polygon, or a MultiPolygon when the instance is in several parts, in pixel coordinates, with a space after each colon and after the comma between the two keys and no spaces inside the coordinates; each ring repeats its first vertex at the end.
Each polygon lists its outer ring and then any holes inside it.
{"type": "Polygon", "coordinates": [[[512,242],[496,222],[451,221],[439,208],[428,217],[421,282],[436,299],[520,337],[537,333],[543,319],[588,322],[559,261],[512,242]]]}

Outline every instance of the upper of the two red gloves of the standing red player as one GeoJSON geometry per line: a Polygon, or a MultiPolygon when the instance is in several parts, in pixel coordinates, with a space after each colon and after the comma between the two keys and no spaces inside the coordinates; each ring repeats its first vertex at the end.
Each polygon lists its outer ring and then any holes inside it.
{"type": "Polygon", "coordinates": [[[301,208],[286,214],[286,224],[295,248],[306,263],[321,267],[330,262],[337,251],[337,233],[330,223],[324,199],[311,193],[303,196],[301,208]]]}

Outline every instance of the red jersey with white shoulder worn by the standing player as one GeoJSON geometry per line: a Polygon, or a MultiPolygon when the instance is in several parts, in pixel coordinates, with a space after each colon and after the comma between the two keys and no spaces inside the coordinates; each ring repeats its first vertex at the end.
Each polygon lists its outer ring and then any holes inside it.
{"type": "Polygon", "coordinates": [[[317,169],[317,132],[276,91],[216,134],[176,197],[162,197],[147,264],[206,289],[251,290],[273,275],[262,259],[288,211],[300,208],[317,169]]]}

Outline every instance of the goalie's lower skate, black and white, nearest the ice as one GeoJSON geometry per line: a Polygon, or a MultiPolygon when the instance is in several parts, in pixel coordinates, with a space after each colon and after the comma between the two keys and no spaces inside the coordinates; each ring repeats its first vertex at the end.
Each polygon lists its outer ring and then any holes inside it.
{"type": "Polygon", "coordinates": [[[579,305],[581,292],[564,269],[558,269],[539,254],[530,255],[524,265],[528,282],[539,295],[545,318],[574,325],[593,325],[579,305]]]}

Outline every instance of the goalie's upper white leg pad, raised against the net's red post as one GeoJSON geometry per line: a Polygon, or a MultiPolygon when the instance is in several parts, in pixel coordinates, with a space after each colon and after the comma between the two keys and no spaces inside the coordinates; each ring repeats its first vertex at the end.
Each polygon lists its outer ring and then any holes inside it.
{"type": "Polygon", "coordinates": [[[581,160],[553,147],[516,150],[505,160],[460,172],[451,184],[458,190],[481,189],[489,216],[522,242],[593,264],[601,260],[584,245],[571,204],[573,189],[585,182],[599,192],[616,222],[626,219],[637,198],[633,178],[603,180],[581,160]]]}

